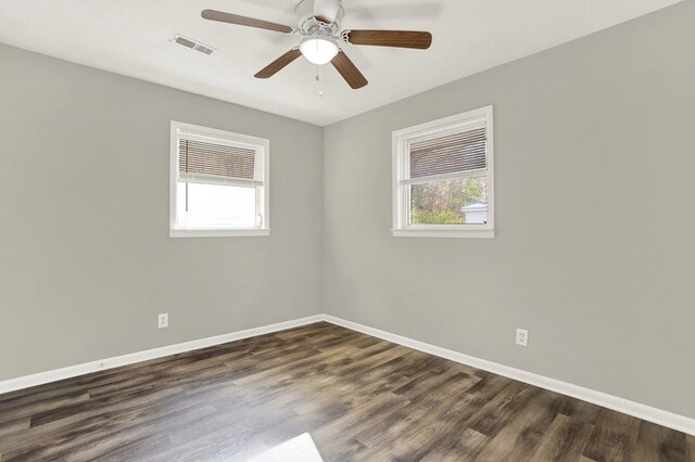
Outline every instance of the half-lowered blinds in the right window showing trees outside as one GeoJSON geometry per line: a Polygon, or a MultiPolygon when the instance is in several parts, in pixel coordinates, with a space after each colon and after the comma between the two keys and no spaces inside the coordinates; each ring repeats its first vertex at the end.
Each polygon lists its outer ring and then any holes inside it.
{"type": "Polygon", "coordinates": [[[484,126],[408,141],[410,178],[458,174],[488,167],[484,126]]]}

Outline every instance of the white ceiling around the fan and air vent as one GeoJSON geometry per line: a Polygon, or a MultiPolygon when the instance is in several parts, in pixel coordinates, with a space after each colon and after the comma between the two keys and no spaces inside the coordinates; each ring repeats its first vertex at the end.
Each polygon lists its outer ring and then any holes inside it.
{"type": "Polygon", "coordinates": [[[296,26],[298,0],[2,0],[0,42],[316,125],[363,113],[680,0],[343,0],[343,28],[430,30],[427,51],[344,44],[369,85],[300,59],[253,75],[298,36],[208,22],[214,9],[296,26]],[[169,42],[181,34],[212,56],[169,42]]]}

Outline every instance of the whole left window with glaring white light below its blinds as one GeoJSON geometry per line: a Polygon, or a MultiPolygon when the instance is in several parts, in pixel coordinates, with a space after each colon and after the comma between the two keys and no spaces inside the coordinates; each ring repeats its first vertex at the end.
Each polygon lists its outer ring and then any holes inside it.
{"type": "Polygon", "coordinates": [[[169,235],[268,235],[269,141],[172,121],[169,235]]]}

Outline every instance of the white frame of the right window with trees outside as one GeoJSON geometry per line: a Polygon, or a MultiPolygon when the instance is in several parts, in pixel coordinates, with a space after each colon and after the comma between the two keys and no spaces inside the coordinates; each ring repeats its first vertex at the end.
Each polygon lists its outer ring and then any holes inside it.
{"type": "Polygon", "coordinates": [[[393,165],[393,235],[396,238],[483,238],[494,239],[495,208],[494,208],[494,131],[492,105],[456,114],[438,120],[407,127],[392,133],[392,165],[393,165]],[[488,222],[485,224],[409,224],[410,184],[430,182],[432,180],[447,180],[473,175],[447,174],[409,180],[409,159],[407,152],[408,140],[453,129],[465,129],[484,120],[486,126],[486,184],[488,184],[488,222]]]}

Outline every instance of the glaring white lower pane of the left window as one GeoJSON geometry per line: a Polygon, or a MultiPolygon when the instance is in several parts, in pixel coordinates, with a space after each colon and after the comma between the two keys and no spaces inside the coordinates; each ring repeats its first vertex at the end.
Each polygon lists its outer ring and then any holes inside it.
{"type": "Polygon", "coordinates": [[[186,182],[177,183],[176,193],[178,224],[184,228],[257,226],[253,187],[188,183],[188,210],[186,182]]]}

